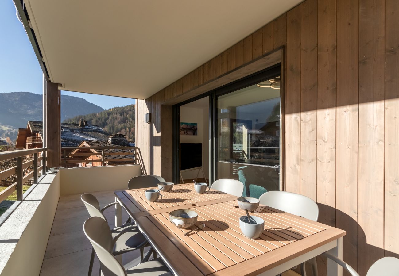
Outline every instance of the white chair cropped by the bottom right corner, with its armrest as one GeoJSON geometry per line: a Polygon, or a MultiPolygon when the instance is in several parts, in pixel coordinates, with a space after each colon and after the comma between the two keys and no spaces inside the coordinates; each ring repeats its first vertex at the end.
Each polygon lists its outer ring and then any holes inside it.
{"type": "MultiPolygon", "coordinates": [[[[324,256],[330,258],[346,271],[348,271],[352,276],[359,276],[358,272],[352,268],[349,264],[337,258],[336,256],[325,252],[324,256]]],[[[377,260],[375,263],[371,265],[369,270],[367,271],[366,276],[398,276],[399,275],[399,259],[395,257],[384,257],[377,260]]]]}

